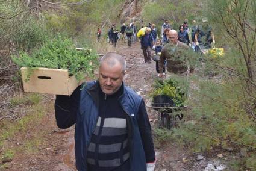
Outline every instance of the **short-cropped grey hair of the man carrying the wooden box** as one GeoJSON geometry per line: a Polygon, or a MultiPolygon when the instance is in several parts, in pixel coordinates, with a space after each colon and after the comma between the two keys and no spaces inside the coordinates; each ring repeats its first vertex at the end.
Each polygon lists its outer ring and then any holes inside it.
{"type": "Polygon", "coordinates": [[[117,54],[115,52],[108,52],[105,54],[99,63],[99,67],[102,66],[102,64],[107,64],[108,67],[112,68],[114,66],[120,65],[122,67],[122,72],[125,73],[126,70],[126,62],[125,58],[123,58],[122,55],[117,54]]]}

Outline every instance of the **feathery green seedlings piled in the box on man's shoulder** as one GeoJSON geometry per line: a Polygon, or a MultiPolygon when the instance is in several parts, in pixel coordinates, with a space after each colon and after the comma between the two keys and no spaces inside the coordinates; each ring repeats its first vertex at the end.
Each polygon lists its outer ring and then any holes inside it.
{"type": "Polygon", "coordinates": [[[68,69],[69,75],[75,75],[78,81],[84,78],[84,74],[93,76],[93,70],[98,66],[97,59],[98,56],[90,51],[76,50],[71,39],[61,36],[48,40],[31,55],[20,52],[20,57],[13,57],[20,67],[68,69]]]}

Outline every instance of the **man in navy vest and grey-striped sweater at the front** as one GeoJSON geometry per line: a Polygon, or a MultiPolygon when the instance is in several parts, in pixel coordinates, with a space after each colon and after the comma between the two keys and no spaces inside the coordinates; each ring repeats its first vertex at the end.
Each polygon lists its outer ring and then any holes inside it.
{"type": "Polygon", "coordinates": [[[79,171],[154,170],[155,151],[145,102],[124,84],[125,69],[125,58],[108,52],[101,58],[98,81],[82,84],[71,96],[56,96],[58,127],[76,124],[79,171]]]}

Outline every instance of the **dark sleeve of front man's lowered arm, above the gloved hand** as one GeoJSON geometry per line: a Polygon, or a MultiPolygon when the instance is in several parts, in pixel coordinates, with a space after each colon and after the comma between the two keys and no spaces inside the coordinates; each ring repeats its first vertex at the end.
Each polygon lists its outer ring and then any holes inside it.
{"type": "Polygon", "coordinates": [[[138,125],[140,130],[140,137],[142,138],[142,145],[144,148],[146,163],[155,161],[155,149],[151,135],[151,125],[146,112],[145,102],[142,99],[139,108],[138,125]]]}

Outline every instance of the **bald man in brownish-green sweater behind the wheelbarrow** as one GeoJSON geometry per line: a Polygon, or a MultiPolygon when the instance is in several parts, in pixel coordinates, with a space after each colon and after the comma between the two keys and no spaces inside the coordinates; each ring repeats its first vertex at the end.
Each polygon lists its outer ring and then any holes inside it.
{"type": "Polygon", "coordinates": [[[189,54],[189,46],[178,41],[178,32],[176,30],[170,30],[167,32],[167,38],[169,39],[169,43],[167,43],[161,51],[160,61],[158,62],[160,72],[159,77],[164,77],[164,60],[167,61],[166,69],[168,72],[178,75],[186,75],[186,58],[189,54]]]}

